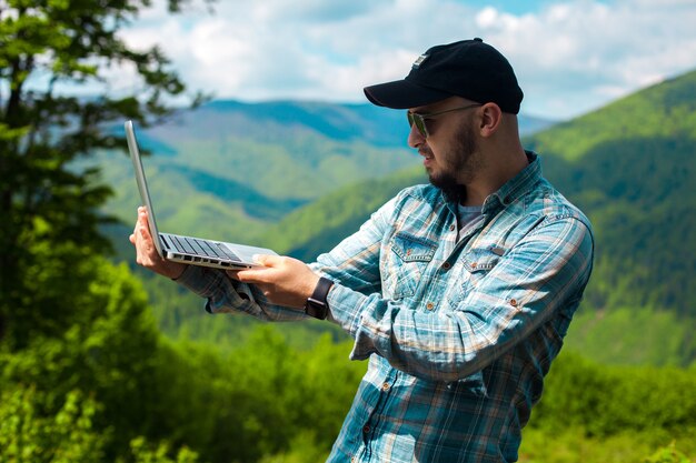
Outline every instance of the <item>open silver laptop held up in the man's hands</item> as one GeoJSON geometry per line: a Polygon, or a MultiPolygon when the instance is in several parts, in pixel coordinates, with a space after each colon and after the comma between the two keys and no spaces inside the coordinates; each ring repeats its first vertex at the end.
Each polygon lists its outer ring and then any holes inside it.
{"type": "Polygon", "coordinates": [[[153,238],[155,248],[161,258],[172,262],[215,269],[250,269],[260,266],[253,261],[255,254],[278,255],[265,248],[159,232],[132,121],[126,121],[125,128],[128,151],[130,151],[130,159],[133,161],[136,170],[138,190],[140,190],[140,198],[148,211],[150,235],[153,238]]]}

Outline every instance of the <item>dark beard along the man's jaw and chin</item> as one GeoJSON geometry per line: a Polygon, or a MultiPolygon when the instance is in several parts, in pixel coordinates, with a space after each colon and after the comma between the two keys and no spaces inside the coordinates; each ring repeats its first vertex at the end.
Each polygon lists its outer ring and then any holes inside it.
{"type": "Polygon", "coordinates": [[[466,184],[470,183],[483,165],[474,130],[461,124],[455,135],[455,143],[441,155],[439,172],[427,171],[428,180],[439,188],[448,201],[464,202],[466,184]]]}

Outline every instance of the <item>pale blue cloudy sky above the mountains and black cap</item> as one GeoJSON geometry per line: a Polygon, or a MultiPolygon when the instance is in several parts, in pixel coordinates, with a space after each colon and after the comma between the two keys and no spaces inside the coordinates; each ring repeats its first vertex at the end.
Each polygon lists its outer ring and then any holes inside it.
{"type": "MultiPolygon", "coordinates": [[[[435,44],[480,37],[507,57],[521,112],[581,115],[696,69],[696,0],[155,0],[122,31],[158,44],[190,89],[246,102],[366,102],[435,44]]],[[[121,72],[122,87],[129,85],[121,72]]]]}

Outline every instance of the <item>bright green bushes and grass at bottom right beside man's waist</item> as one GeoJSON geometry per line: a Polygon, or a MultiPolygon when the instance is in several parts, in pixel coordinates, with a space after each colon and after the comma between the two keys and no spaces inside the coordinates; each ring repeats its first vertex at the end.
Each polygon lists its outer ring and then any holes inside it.
{"type": "Polygon", "coordinates": [[[644,463],[672,442],[696,456],[695,390],[694,368],[606,366],[564,352],[523,432],[520,462],[644,463]]]}

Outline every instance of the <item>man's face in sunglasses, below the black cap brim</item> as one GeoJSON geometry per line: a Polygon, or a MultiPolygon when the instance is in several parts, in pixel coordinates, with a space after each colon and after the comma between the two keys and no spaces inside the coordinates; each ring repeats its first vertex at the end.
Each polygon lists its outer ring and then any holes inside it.
{"type": "MultiPolygon", "coordinates": [[[[450,98],[427,107],[410,110],[427,114],[463,108],[470,102],[460,98],[450,98]]],[[[463,185],[471,183],[483,167],[483,158],[474,131],[474,114],[477,108],[444,113],[431,120],[426,119],[428,137],[425,138],[411,127],[408,137],[410,147],[418,149],[430,183],[440,188],[445,194],[455,195],[463,185]]]]}

